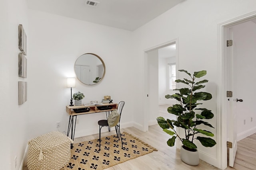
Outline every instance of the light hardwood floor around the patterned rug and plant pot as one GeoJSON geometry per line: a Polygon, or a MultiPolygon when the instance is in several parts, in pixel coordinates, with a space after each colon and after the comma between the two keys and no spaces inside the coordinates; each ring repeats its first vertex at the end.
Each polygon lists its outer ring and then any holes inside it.
{"type": "MultiPolygon", "coordinates": [[[[166,109],[168,106],[162,106],[159,109],[159,116],[166,118],[170,116],[166,109]]],[[[175,119],[175,117],[168,117],[175,119]]],[[[122,127],[122,126],[121,126],[122,127]]],[[[180,149],[169,147],[166,141],[169,139],[166,133],[158,125],[152,125],[147,132],[140,131],[135,127],[121,129],[126,131],[142,141],[152,145],[158,151],[140,156],[136,159],[128,160],[124,163],[117,164],[106,170],[219,170],[218,168],[200,160],[198,166],[189,166],[180,160],[180,149]]],[[[115,131],[102,133],[102,137],[113,135],[115,131]]],[[[88,141],[98,138],[99,134],[89,135],[86,137],[75,138],[74,142],[88,141]]],[[[26,168],[24,169],[26,170],[26,168]]],[[[234,168],[228,167],[226,170],[256,170],[256,134],[247,137],[238,142],[238,150],[234,168]]]]}

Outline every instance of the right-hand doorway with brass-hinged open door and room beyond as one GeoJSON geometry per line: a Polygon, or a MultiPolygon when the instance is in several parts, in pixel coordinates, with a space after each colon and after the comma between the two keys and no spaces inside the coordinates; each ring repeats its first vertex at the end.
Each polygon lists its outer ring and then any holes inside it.
{"type": "MultiPolygon", "coordinates": [[[[221,104],[219,105],[221,116],[218,122],[221,122],[222,131],[221,141],[222,149],[219,151],[218,162],[222,162],[222,169],[233,166],[236,156],[237,141],[248,137],[256,132],[256,124],[253,122],[253,104],[250,104],[253,98],[251,95],[250,84],[256,82],[253,73],[256,71],[255,63],[255,45],[256,45],[256,14],[248,14],[231,21],[219,24],[219,32],[223,33],[221,37],[221,65],[222,65],[222,87],[221,104]],[[233,40],[232,46],[227,46],[227,40],[233,40]],[[232,96],[228,96],[227,91],[232,91],[232,96]],[[242,99],[242,100],[240,100],[242,99]],[[226,114],[223,114],[226,113],[226,114]],[[229,148],[229,161],[227,158],[226,142],[232,142],[232,148],[229,148]],[[222,158],[221,158],[222,156],[222,158]]],[[[220,35],[220,34],[219,34],[220,35]]]]}

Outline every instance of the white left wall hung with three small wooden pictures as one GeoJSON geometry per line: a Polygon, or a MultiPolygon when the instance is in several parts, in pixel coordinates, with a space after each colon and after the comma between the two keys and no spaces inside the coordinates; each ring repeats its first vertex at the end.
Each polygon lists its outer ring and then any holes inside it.
{"type": "MultiPolygon", "coordinates": [[[[0,2],[0,164],[2,170],[18,170],[27,143],[28,102],[18,105],[18,25],[29,36],[26,0],[0,2]],[[14,158],[17,156],[15,168],[14,158]]],[[[29,40],[28,40],[29,41],[29,40]]],[[[26,56],[29,62],[29,54],[26,56]]]]}

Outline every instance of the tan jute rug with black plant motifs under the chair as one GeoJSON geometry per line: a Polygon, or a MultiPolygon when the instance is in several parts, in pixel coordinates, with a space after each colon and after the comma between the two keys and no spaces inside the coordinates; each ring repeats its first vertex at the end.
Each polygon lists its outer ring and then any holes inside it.
{"type": "Polygon", "coordinates": [[[123,132],[121,140],[116,135],[74,144],[70,162],[61,170],[103,170],[110,166],[137,158],[157,150],[140,139],[123,132]]]}

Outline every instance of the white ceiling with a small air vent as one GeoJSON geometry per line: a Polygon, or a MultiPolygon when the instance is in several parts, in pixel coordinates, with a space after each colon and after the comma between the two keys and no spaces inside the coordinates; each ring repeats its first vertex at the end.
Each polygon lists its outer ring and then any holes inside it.
{"type": "Polygon", "coordinates": [[[184,0],[28,0],[28,8],[134,31],[184,0]]]}

